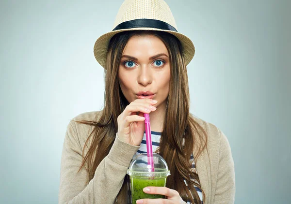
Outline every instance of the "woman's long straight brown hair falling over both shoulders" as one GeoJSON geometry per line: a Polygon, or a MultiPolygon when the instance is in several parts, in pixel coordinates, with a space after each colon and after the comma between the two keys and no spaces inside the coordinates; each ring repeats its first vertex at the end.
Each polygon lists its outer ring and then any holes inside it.
{"type": "MultiPolygon", "coordinates": [[[[203,149],[206,148],[207,133],[189,112],[188,75],[182,45],[178,38],[167,32],[125,31],[115,34],[110,40],[104,73],[104,109],[98,121],[76,121],[95,126],[85,143],[85,146],[89,145],[89,149],[86,155],[84,155],[84,146],[83,161],[79,171],[84,166],[88,171],[88,180],[90,181],[94,177],[97,166],[108,155],[113,145],[117,132],[117,117],[129,104],[122,94],[118,80],[118,69],[122,52],[130,37],[145,34],[151,34],[161,39],[170,55],[171,77],[169,95],[161,143],[156,151],[165,159],[171,171],[171,175],[167,178],[166,187],[177,190],[184,201],[201,204],[194,185],[200,189],[202,188],[199,177],[194,168],[192,168],[192,162],[193,160],[196,162],[203,149]],[[87,144],[91,136],[93,136],[92,142],[87,144]],[[194,158],[190,160],[192,153],[194,158]],[[186,180],[188,186],[184,180],[186,180]]],[[[129,177],[126,175],[123,186],[116,197],[117,203],[126,203],[128,182],[129,177]]],[[[203,189],[202,195],[205,202],[203,189]]]]}

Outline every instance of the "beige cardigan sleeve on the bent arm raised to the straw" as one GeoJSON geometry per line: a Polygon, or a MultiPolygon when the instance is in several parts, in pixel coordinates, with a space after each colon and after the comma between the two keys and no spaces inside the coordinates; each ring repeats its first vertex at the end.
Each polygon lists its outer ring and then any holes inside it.
{"type": "MultiPolygon", "coordinates": [[[[80,131],[80,130],[78,130],[80,131]]],[[[93,179],[82,167],[82,148],[76,122],[70,122],[65,133],[61,159],[59,204],[113,204],[121,189],[129,163],[140,146],[131,146],[116,137],[109,154],[100,162],[93,179]],[[77,173],[78,172],[78,173],[77,173]]]]}

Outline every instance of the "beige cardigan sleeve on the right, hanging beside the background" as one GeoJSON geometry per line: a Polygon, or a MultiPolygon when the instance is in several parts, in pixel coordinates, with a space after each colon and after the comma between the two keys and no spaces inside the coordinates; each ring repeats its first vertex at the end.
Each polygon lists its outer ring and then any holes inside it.
{"type": "Polygon", "coordinates": [[[233,204],[234,196],[234,161],[226,135],[220,131],[219,166],[214,195],[214,204],[233,204]]]}

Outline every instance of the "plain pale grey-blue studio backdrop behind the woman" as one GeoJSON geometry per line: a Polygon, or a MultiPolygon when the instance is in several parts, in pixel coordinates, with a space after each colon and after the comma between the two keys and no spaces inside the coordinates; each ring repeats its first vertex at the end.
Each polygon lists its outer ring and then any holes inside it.
{"type": "MultiPolygon", "coordinates": [[[[191,112],[232,148],[235,203],[291,203],[291,1],[166,2],[196,47],[191,112]]],[[[121,3],[1,0],[1,204],[58,202],[66,126],[102,108],[93,45],[121,3]]]]}

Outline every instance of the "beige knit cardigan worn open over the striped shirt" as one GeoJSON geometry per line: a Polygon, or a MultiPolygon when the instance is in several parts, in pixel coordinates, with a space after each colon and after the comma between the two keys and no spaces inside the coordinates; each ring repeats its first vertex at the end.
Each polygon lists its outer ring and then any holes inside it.
{"type": "MultiPolygon", "coordinates": [[[[100,112],[88,112],[73,119],[97,121],[99,116],[100,112]]],[[[196,162],[201,187],[206,194],[203,203],[233,204],[234,162],[228,140],[214,125],[195,119],[208,133],[208,148],[196,162]]],[[[88,183],[87,171],[84,168],[79,173],[77,171],[81,166],[83,146],[92,130],[92,126],[74,121],[67,126],[61,159],[59,204],[113,204],[130,160],[140,147],[123,143],[117,136],[109,154],[98,165],[94,178],[88,183]]]]}

